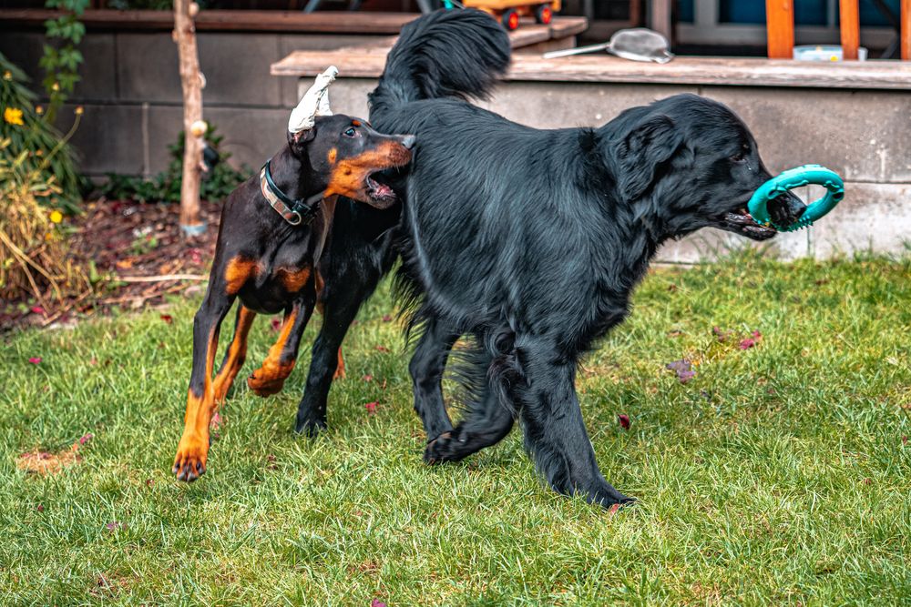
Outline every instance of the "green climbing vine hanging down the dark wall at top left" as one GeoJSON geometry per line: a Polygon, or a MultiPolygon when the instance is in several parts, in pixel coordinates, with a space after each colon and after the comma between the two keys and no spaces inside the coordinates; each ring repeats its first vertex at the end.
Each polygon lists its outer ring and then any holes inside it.
{"type": "Polygon", "coordinates": [[[60,42],[58,46],[46,44],[45,54],[38,62],[45,70],[46,76],[42,84],[50,98],[48,120],[53,122],[57,110],[72,95],[79,81],[82,53],[76,46],[82,41],[82,36],[86,35],[86,26],[79,22],[79,16],[86,11],[88,0],[46,0],[45,6],[65,11],[56,19],[45,22],[47,38],[60,42]]]}

